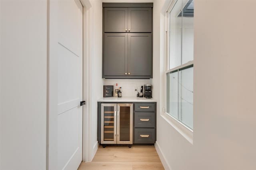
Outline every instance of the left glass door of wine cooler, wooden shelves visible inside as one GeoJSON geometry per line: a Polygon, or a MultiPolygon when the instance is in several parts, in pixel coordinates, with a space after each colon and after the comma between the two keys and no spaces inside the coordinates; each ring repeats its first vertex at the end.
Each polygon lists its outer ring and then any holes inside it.
{"type": "Polygon", "coordinates": [[[116,104],[101,104],[102,144],[116,144],[116,104]]]}

